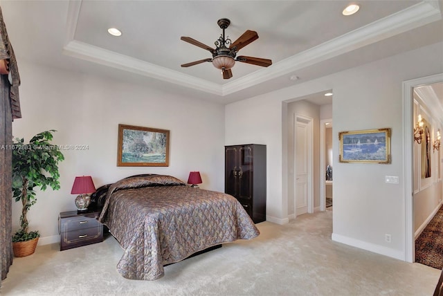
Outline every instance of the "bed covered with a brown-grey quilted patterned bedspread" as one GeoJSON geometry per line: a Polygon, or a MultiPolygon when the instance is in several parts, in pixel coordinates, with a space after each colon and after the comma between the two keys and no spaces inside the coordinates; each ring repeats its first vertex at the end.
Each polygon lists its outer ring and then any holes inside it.
{"type": "Polygon", "coordinates": [[[117,270],[127,279],[159,279],[170,263],[260,232],[242,205],[221,192],[172,176],[137,175],[100,187],[98,220],[125,250],[117,270]]]}

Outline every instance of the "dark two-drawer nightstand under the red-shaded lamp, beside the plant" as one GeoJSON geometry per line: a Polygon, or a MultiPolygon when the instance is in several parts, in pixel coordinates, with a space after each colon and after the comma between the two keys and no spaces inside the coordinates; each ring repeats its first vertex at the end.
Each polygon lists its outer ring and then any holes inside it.
{"type": "Polygon", "coordinates": [[[95,210],[61,212],[58,217],[60,251],[100,243],[103,241],[103,224],[95,210]]]}

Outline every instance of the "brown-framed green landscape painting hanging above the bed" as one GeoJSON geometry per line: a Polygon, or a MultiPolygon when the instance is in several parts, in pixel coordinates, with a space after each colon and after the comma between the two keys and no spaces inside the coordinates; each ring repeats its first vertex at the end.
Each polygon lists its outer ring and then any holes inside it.
{"type": "Polygon", "coordinates": [[[118,167],[168,167],[169,131],[118,124],[118,167]]]}

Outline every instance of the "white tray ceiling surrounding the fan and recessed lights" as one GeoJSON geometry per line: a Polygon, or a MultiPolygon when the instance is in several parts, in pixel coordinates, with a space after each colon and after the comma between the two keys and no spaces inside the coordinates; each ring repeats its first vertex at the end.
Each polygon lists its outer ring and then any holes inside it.
{"type": "MultiPolygon", "coordinates": [[[[0,6],[20,59],[123,82],[168,89],[221,104],[242,100],[443,41],[443,1],[8,1],[0,6]],[[220,18],[233,41],[245,30],[259,39],[239,55],[272,59],[262,68],[237,62],[223,80],[210,57],[180,40],[213,46],[220,18]],[[107,28],[123,35],[112,37],[107,28]],[[298,80],[289,77],[297,76],[298,80]]],[[[20,65],[19,65],[20,66],[20,65]]],[[[330,100],[330,99],[329,99],[330,100]]],[[[322,102],[319,102],[322,104],[322,102]]]]}

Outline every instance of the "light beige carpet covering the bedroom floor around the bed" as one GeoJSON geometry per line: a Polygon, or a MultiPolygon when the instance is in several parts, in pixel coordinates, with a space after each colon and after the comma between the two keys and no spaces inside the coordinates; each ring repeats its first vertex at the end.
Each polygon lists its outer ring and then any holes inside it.
{"type": "Polygon", "coordinates": [[[331,241],[332,211],[165,267],[156,281],[124,279],[113,237],[60,252],[39,246],[15,258],[1,295],[432,295],[440,270],[331,241]]]}

